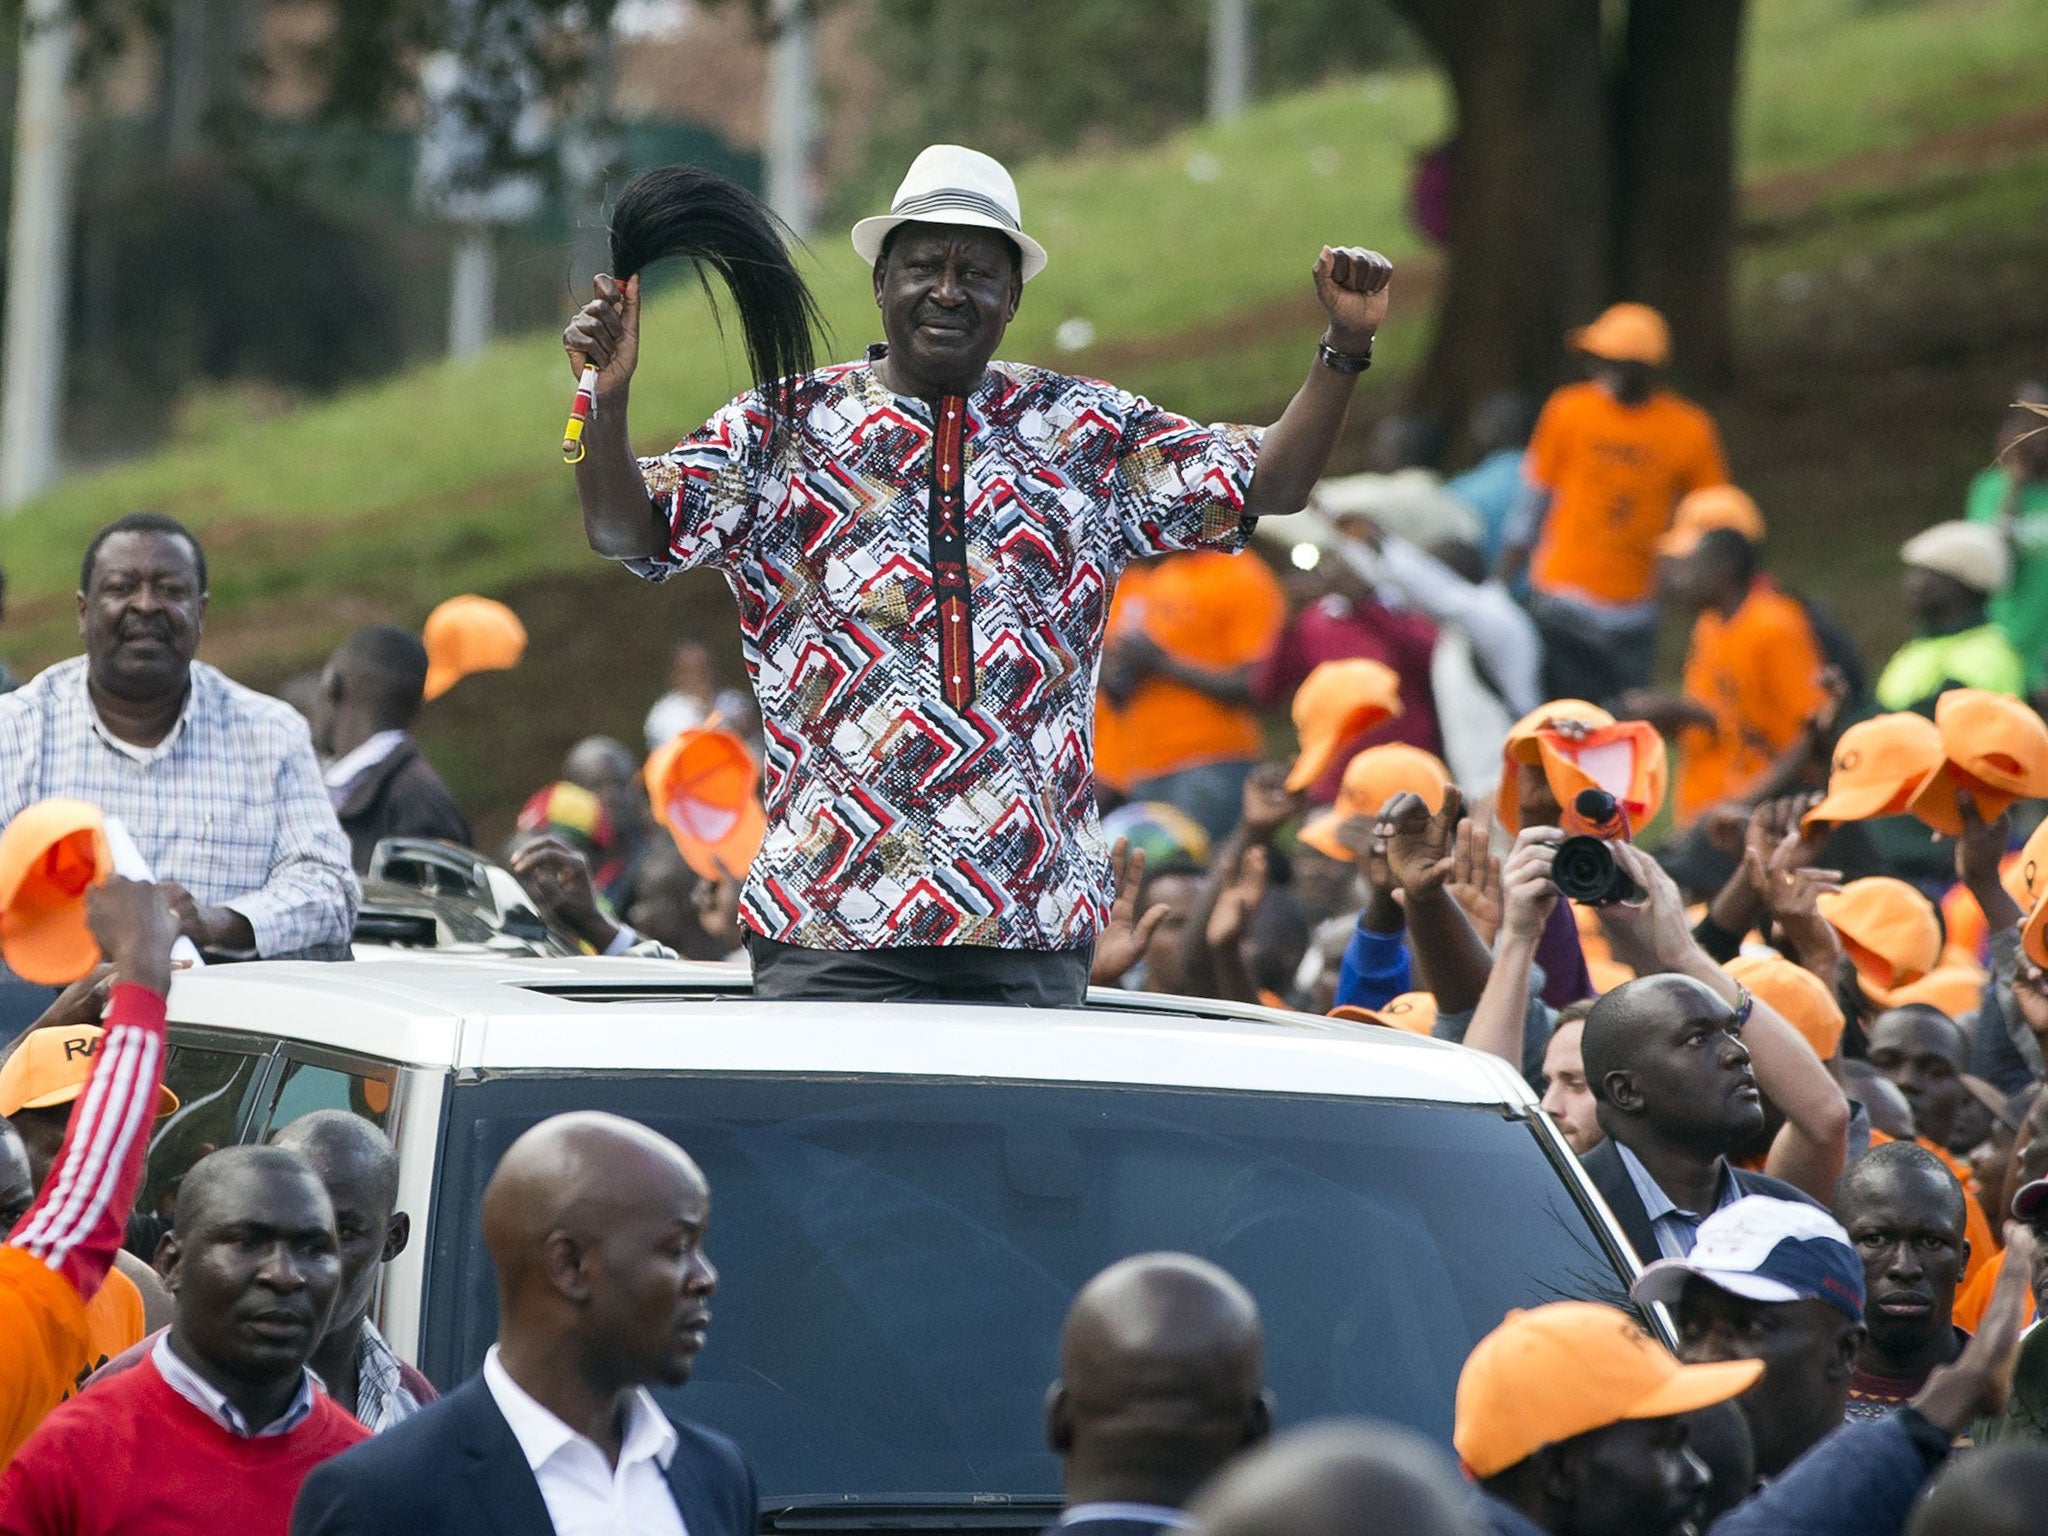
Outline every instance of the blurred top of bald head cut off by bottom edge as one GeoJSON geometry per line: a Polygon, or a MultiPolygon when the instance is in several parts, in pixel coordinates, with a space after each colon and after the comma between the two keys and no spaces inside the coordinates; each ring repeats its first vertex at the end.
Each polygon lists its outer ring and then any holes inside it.
{"type": "Polygon", "coordinates": [[[1292,1430],[1190,1511],[1202,1536],[1483,1536],[1470,1489],[1421,1436],[1364,1419],[1292,1430]]]}

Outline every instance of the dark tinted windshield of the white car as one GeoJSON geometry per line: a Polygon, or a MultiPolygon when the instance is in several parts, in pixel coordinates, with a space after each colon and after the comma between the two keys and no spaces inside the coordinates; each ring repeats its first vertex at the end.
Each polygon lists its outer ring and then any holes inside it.
{"type": "Polygon", "coordinates": [[[444,1133],[424,1366],[496,1331],[475,1231],[526,1126],[610,1110],[711,1180],[709,1346],[664,1395],[764,1497],[1051,1495],[1061,1319],[1128,1253],[1214,1260],[1257,1296],[1280,1421],[1370,1413],[1448,1440],[1458,1366],[1511,1307],[1626,1282],[1528,1120],[1501,1110],[1135,1087],[510,1075],[444,1133]]]}

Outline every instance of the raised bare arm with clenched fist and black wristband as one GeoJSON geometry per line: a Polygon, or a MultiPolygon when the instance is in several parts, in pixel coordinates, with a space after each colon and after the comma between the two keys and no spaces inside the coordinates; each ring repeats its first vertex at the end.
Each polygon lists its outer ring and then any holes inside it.
{"type": "Polygon", "coordinates": [[[1247,518],[1278,518],[1309,506],[1309,492],[1329,467],[1329,453],[1352,410],[1358,375],[1372,356],[1372,336],[1386,319],[1393,274],[1393,262],[1372,250],[1323,246],[1315,258],[1315,297],[1329,315],[1323,344],[1341,362],[1333,367],[1319,350],[1309,379],[1280,420],[1266,428],[1251,489],[1245,492],[1247,518]]]}

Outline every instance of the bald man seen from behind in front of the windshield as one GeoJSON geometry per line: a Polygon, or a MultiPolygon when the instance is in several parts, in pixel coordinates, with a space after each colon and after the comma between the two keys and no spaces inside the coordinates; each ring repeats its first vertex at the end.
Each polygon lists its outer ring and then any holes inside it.
{"type": "MultiPolygon", "coordinates": [[[[1155,1536],[1231,1456],[1272,1432],[1260,1309],[1188,1253],[1112,1264],[1073,1298],[1047,1393],[1075,1536],[1155,1536]]],[[[692,1532],[694,1536],[694,1532],[692,1532]]]]}

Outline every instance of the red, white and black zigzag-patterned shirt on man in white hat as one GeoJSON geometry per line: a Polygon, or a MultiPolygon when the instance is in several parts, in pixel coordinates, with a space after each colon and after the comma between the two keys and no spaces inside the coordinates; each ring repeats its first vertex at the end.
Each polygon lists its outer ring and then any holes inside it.
{"type": "Polygon", "coordinates": [[[1094,696],[1116,573],[1241,549],[1257,430],[991,362],[967,397],[809,375],[643,461],[651,580],[717,565],[768,739],[741,918],[809,948],[1073,948],[1102,928],[1094,696]],[[934,453],[936,446],[936,453],[934,453]]]}

